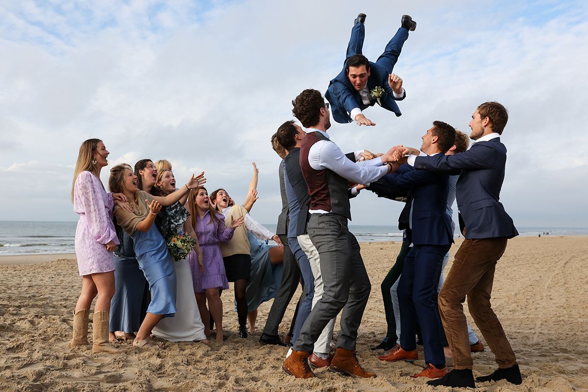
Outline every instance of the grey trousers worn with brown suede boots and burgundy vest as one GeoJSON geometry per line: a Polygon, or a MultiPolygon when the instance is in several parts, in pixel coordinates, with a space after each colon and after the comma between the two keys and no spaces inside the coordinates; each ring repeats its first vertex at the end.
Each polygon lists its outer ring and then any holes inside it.
{"type": "Polygon", "coordinates": [[[346,217],[312,214],[308,234],[320,257],[324,293],[312,308],[294,350],[313,351],[313,344],[331,319],[341,313],[337,346],[355,350],[358,328],[372,286],[346,217]]]}

